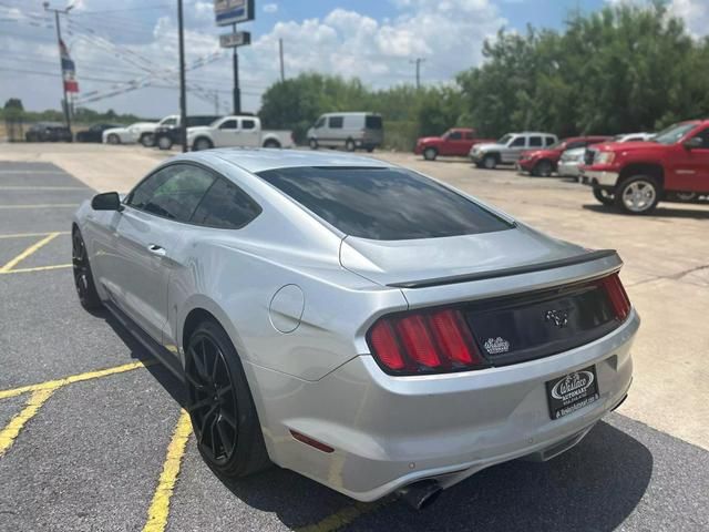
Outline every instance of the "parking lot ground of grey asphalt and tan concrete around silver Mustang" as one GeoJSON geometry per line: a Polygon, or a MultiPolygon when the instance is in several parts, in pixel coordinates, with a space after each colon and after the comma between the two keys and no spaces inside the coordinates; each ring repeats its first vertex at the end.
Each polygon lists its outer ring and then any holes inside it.
{"type": "Polygon", "coordinates": [[[111,170],[117,160],[84,172],[101,158],[68,153],[62,167],[0,157],[0,530],[709,530],[706,206],[668,204],[643,225],[558,178],[402,156],[558,237],[617,247],[644,318],[636,383],[617,413],[551,462],[491,468],[414,513],[276,468],[236,483],[214,475],[181,383],[74,294],[73,211],[96,183],[123,191],[142,173],[111,170]]]}

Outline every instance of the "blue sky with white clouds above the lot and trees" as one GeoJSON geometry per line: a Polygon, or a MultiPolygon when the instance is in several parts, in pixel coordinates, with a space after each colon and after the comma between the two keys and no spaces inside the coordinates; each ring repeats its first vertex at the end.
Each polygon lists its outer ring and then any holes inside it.
{"type": "MultiPolygon", "coordinates": [[[[69,0],[71,1],[71,0],[69,0]]],[[[422,82],[450,83],[482,61],[485,39],[501,27],[562,29],[572,10],[646,0],[256,0],[256,20],[243,24],[251,45],[240,49],[243,106],[257,111],[279,75],[320,71],[358,76],[374,88],[414,81],[410,61],[425,58],[422,82]]],[[[76,63],[78,103],[158,117],[177,110],[174,0],[73,0],[64,40],[76,63]],[[130,90],[140,86],[136,90],[130,90]],[[90,96],[97,98],[90,101],[90,96]]],[[[63,7],[68,0],[51,0],[63,7]]],[[[232,71],[218,48],[213,0],[184,0],[191,112],[229,111],[232,71]],[[218,102],[217,102],[218,99],[218,102]]],[[[709,30],[709,0],[668,0],[695,34],[709,30]]],[[[0,0],[0,103],[21,96],[28,109],[59,108],[58,51],[52,18],[41,0],[0,0]]]]}

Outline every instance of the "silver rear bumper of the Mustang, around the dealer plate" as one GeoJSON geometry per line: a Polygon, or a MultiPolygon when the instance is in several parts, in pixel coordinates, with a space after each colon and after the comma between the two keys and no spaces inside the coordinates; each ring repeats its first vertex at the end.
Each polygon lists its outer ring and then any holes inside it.
{"type": "Polygon", "coordinates": [[[513,366],[453,375],[391,377],[359,356],[316,382],[250,366],[270,458],[361,501],[418,480],[443,488],[515,458],[548,459],[576,444],[630,386],[635,310],[583,347],[513,366]],[[595,365],[599,399],[558,420],[545,382],[595,365]],[[332,448],[295,440],[295,430],[332,448]]]}

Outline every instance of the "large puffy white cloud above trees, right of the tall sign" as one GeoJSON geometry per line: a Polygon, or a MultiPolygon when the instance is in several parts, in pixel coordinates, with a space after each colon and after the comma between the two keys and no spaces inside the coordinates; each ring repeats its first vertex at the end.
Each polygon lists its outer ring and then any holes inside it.
{"type": "Polygon", "coordinates": [[[422,79],[441,82],[476,64],[483,40],[505,23],[490,0],[444,0],[433,7],[424,0],[394,1],[400,12],[391,20],[337,8],[322,19],[279,22],[245,55],[275,75],[280,38],[287,75],[316,70],[376,86],[412,82],[409,60],[423,57],[422,79]]]}

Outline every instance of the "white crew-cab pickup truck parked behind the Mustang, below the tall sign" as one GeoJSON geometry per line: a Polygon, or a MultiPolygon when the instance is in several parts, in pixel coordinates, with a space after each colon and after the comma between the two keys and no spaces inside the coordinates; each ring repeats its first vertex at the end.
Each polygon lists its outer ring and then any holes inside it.
{"type": "Polygon", "coordinates": [[[263,131],[258,116],[224,116],[209,125],[187,127],[187,145],[210,147],[292,147],[290,131],[263,131]]]}

